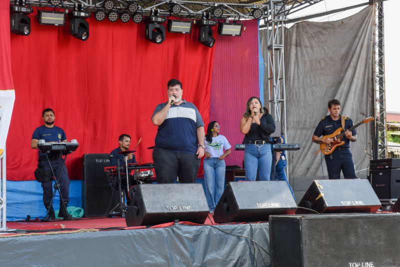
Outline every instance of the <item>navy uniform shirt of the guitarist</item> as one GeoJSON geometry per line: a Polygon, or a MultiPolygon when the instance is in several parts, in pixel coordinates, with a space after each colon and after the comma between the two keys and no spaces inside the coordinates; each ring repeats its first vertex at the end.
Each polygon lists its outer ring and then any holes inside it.
{"type": "MultiPolygon", "coordinates": [[[[344,130],[350,128],[353,125],[353,121],[349,117],[344,117],[344,130]]],[[[339,115],[339,119],[333,120],[330,115],[323,117],[314,130],[314,135],[320,137],[321,135],[332,134],[337,128],[341,127],[341,115],[339,115]]],[[[357,132],[355,129],[351,131],[352,135],[356,135],[357,132]]],[[[344,144],[341,146],[342,148],[350,147],[350,140],[343,136],[342,141],[344,144]]]]}

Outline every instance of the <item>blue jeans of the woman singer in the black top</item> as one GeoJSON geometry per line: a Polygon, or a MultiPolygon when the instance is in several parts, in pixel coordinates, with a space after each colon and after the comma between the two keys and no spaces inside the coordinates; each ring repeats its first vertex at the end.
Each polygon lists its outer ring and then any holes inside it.
{"type": "Polygon", "coordinates": [[[247,181],[254,181],[258,176],[261,181],[269,181],[272,164],[271,145],[247,143],[244,148],[244,169],[247,181]]]}

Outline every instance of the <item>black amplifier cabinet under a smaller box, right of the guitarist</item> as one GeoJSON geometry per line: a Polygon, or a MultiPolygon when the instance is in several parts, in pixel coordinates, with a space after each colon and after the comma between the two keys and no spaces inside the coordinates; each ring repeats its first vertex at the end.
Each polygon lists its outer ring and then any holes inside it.
{"type": "Polygon", "coordinates": [[[379,199],[400,197],[400,169],[371,169],[369,181],[379,199]]]}

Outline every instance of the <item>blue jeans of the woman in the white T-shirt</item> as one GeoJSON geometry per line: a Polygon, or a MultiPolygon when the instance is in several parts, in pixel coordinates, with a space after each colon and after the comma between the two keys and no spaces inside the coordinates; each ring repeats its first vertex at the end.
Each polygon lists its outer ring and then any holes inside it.
{"type": "Polygon", "coordinates": [[[223,193],[225,184],[225,160],[217,157],[204,158],[205,198],[209,210],[214,210],[216,203],[223,193]]]}

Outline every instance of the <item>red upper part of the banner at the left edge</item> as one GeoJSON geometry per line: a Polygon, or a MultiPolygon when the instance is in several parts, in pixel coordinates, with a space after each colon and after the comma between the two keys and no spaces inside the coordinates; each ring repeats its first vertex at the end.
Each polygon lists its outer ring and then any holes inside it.
{"type": "Polygon", "coordinates": [[[0,1],[0,90],[13,89],[10,56],[9,3],[0,1]]]}

